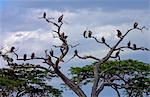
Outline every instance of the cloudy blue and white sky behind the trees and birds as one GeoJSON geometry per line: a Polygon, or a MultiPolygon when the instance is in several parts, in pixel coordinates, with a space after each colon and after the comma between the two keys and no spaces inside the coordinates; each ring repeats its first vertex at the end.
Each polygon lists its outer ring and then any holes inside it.
{"type": "MultiPolygon", "coordinates": [[[[40,20],[43,12],[49,17],[57,18],[64,15],[62,31],[65,32],[70,44],[80,45],[78,49],[81,55],[95,55],[102,58],[108,49],[97,44],[92,39],[85,39],[82,36],[84,30],[91,30],[97,38],[105,36],[106,41],[113,45],[118,38],[116,30],[120,29],[125,33],[133,27],[134,22],[139,23],[139,27],[146,26],[148,29],[140,32],[132,31],[125,38],[122,44],[128,41],[136,43],[137,47],[150,48],[150,1],[149,0],[1,0],[0,1],[0,46],[9,49],[15,46],[19,49],[19,54],[31,54],[42,56],[45,49],[51,49],[53,44],[59,45],[60,41],[54,39],[51,24],[40,20]]],[[[69,51],[65,60],[69,59],[74,49],[69,51]]],[[[136,59],[150,63],[150,53],[143,51],[126,50],[121,53],[122,59],[136,59]]],[[[84,66],[93,60],[74,60],[65,63],[61,70],[67,74],[71,66],[84,66]]],[[[5,63],[0,59],[0,67],[5,63]]],[[[59,80],[58,80],[59,82],[59,80]]],[[[57,85],[56,81],[52,82],[57,85]]],[[[106,89],[110,90],[110,89],[106,89]]],[[[84,91],[89,94],[90,86],[84,87],[84,91]]],[[[76,97],[74,93],[67,91],[63,97],[76,97]]],[[[90,94],[89,94],[90,95],[90,94]]],[[[104,91],[102,97],[115,97],[113,91],[104,91]]]]}

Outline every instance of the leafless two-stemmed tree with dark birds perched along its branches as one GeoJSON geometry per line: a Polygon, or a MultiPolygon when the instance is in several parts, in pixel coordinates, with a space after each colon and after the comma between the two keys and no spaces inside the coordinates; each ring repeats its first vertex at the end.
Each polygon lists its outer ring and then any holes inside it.
{"type": "MultiPolygon", "coordinates": [[[[57,28],[56,30],[52,30],[53,33],[55,33],[54,38],[58,38],[62,43],[61,43],[61,45],[53,45],[53,46],[55,47],[55,49],[57,49],[57,51],[58,50],[60,51],[59,55],[55,54],[54,49],[50,49],[50,50],[45,50],[45,56],[43,56],[43,57],[38,57],[38,56],[36,56],[35,53],[32,53],[31,57],[27,57],[27,54],[24,54],[23,58],[20,58],[20,56],[18,56],[18,53],[15,51],[15,47],[12,47],[7,53],[12,53],[13,55],[15,55],[16,60],[18,60],[18,61],[19,60],[23,60],[23,61],[42,60],[43,63],[45,63],[49,66],[49,69],[51,69],[53,72],[55,72],[55,74],[57,76],[59,76],[62,79],[62,81],[73,92],[76,93],[76,95],[78,95],[79,97],[87,97],[87,95],[84,93],[84,91],[81,89],[81,87],[78,84],[76,84],[74,81],[69,79],[66,75],[64,75],[64,73],[62,71],[60,71],[60,63],[64,62],[64,58],[67,56],[68,51],[71,48],[78,46],[78,45],[69,44],[68,38],[67,38],[68,36],[66,35],[66,33],[61,31],[62,25],[64,24],[63,15],[61,15],[57,21],[54,21],[52,18],[47,17],[46,13],[44,12],[43,16],[40,19],[44,19],[47,23],[50,23],[57,28]]],[[[145,47],[138,47],[136,44],[132,45],[132,43],[130,41],[123,46],[119,46],[119,44],[124,40],[124,38],[128,35],[129,32],[131,32],[135,29],[142,31],[144,28],[145,27],[140,28],[138,26],[138,23],[134,23],[133,27],[131,27],[131,29],[127,30],[126,33],[124,33],[124,34],[120,30],[116,30],[117,37],[119,38],[119,40],[116,43],[114,43],[114,45],[109,45],[107,43],[107,41],[105,40],[105,36],[103,36],[101,38],[101,40],[99,40],[95,36],[93,36],[92,31],[90,31],[90,30],[84,31],[84,33],[83,33],[84,38],[94,39],[97,43],[105,45],[106,47],[109,48],[108,53],[106,53],[106,55],[104,55],[104,57],[101,59],[98,57],[95,57],[93,55],[80,56],[78,53],[78,50],[74,51],[73,57],[71,58],[71,59],[73,59],[74,57],[78,57],[80,59],[93,59],[94,61],[96,61],[92,65],[92,68],[93,68],[92,83],[93,83],[93,85],[92,85],[91,97],[98,97],[99,93],[103,90],[103,88],[105,86],[104,81],[101,80],[101,76],[99,75],[101,72],[101,69],[99,68],[99,66],[101,66],[102,64],[107,62],[109,59],[117,59],[120,61],[121,60],[120,52],[122,52],[124,49],[131,49],[134,51],[137,51],[137,50],[150,51],[149,49],[147,49],[145,47]]],[[[6,59],[7,59],[8,64],[13,62],[12,58],[6,57],[6,59]]]]}

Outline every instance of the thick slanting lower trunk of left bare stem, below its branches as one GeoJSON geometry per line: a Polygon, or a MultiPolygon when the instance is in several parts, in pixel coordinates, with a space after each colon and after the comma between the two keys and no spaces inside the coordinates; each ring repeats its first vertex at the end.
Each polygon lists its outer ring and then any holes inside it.
{"type": "Polygon", "coordinates": [[[68,85],[68,87],[73,90],[79,97],[87,97],[84,92],[81,90],[81,88],[72,82],[70,79],[68,79],[58,68],[55,68],[55,73],[63,80],[63,82],[68,85]]]}

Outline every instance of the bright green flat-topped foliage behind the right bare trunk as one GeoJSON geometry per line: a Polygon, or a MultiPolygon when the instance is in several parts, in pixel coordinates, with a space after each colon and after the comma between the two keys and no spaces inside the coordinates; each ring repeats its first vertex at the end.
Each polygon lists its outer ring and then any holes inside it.
{"type": "MultiPolygon", "coordinates": [[[[92,65],[94,65],[94,62],[92,65]]],[[[80,85],[86,85],[92,82],[94,78],[93,66],[86,65],[84,67],[71,67],[70,72],[72,80],[80,85]]],[[[137,60],[123,61],[107,61],[99,65],[100,79],[111,79],[113,76],[121,78],[115,83],[124,85],[132,83],[130,88],[126,88],[126,92],[132,91],[130,96],[137,96],[139,92],[150,93],[150,65],[139,62],[137,60]],[[126,83],[125,83],[126,82],[126,83]]],[[[122,87],[120,87],[121,89],[122,87]]],[[[139,94],[140,95],[140,94],[139,94]]]]}

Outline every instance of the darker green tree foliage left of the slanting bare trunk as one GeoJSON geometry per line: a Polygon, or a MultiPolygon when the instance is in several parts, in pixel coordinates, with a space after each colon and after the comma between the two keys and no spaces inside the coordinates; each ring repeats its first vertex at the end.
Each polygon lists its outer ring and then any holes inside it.
{"type": "Polygon", "coordinates": [[[5,97],[17,93],[15,97],[60,97],[62,91],[46,83],[46,80],[51,80],[52,77],[56,75],[40,65],[13,64],[11,68],[1,68],[0,95],[5,97]]]}

